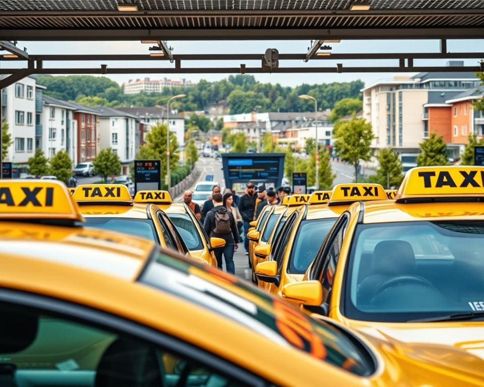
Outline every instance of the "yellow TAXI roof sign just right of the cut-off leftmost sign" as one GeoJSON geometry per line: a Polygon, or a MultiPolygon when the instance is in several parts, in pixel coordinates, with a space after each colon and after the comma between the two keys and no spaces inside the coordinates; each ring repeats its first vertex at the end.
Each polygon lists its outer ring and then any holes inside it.
{"type": "Polygon", "coordinates": [[[80,205],[133,205],[130,191],[124,184],[79,185],[72,198],[80,205]]]}

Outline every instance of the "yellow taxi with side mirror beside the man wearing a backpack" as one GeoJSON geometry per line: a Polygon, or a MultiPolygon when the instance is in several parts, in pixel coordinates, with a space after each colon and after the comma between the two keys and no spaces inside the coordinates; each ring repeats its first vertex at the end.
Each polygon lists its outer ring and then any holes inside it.
{"type": "Polygon", "coordinates": [[[200,221],[185,203],[172,203],[168,191],[140,190],[136,192],[134,203],[156,204],[174,224],[181,239],[187,245],[190,255],[206,265],[217,267],[213,249],[225,246],[222,238],[209,238],[200,221]]]}

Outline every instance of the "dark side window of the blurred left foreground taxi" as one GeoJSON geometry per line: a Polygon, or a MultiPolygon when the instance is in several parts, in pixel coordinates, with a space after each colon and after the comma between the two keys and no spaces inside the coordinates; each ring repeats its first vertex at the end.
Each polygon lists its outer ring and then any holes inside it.
{"type": "Polygon", "coordinates": [[[5,302],[0,313],[2,385],[246,385],[203,358],[179,355],[117,329],[5,302]]]}

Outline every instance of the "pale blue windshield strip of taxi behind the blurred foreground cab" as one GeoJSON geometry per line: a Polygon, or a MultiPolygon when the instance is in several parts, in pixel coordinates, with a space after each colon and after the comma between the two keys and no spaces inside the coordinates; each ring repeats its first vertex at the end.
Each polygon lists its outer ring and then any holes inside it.
{"type": "Polygon", "coordinates": [[[141,236],[158,242],[153,222],[149,219],[101,218],[86,217],[85,227],[102,228],[103,230],[124,232],[125,234],[141,236]]]}

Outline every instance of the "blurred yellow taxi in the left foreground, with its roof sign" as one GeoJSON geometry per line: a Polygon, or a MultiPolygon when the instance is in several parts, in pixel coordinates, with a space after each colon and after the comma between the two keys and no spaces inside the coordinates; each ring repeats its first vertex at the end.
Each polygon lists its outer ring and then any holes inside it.
{"type": "Polygon", "coordinates": [[[361,335],[83,223],[64,184],[0,181],[2,385],[382,385],[361,335]]]}

